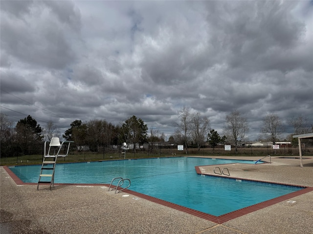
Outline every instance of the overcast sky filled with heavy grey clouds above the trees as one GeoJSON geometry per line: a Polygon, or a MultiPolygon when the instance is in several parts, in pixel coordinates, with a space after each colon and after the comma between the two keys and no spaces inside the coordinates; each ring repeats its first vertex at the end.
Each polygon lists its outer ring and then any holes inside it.
{"type": "MultiPolygon", "coordinates": [[[[135,115],[174,133],[184,105],[222,134],[268,113],[313,123],[313,1],[0,1],[1,113],[61,133],[135,115]],[[220,132],[221,131],[221,132],[220,132]]],[[[287,128],[287,134],[292,128],[287,128]]]]}

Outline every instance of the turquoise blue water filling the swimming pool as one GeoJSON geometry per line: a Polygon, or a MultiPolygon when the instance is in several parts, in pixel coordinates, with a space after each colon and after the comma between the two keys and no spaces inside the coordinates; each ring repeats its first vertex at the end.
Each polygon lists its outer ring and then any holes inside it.
{"type": "MultiPolygon", "coordinates": [[[[56,165],[54,181],[110,184],[114,177],[129,178],[132,183],[130,190],[216,216],[302,189],[295,186],[201,176],[195,171],[195,166],[226,163],[254,164],[253,161],[247,160],[197,157],[62,163],[56,165]]],[[[23,182],[37,183],[41,165],[13,166],[10,169],[23,182]]]]}

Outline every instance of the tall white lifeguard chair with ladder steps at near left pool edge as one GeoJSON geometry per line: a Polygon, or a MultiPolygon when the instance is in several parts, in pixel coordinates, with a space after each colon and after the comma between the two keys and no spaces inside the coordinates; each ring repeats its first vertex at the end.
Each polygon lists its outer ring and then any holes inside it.
{"type": "Polygon", "coordinates": [[[59,137],[52,137],[51,141],[45,141],[45,152],[46,152],[46,144],[49,143],[49,149],[48,149],[48,153],[44,155],[44,160],[43,160],[43,164],[41,166],[41,171],[40,171],[40,175],[39,175],[39,179],[38,179],[38,184],[37,184],[37,190],[39,188],[39,184],[41,183],[48,183],[50,184],[50,190],[51,187],[54,188],[54,171],[55,171],[55,166],[57,163],[57,158],[58,157],[66,157],[68,155],[68,151],[69,151],[69,145],[70,143],[74,142],[74,141],[70,141],[70,140],[65,140],[62,142],[62,144],[60,143],[60,139],[59,137]],[[66,151],[66,155],[61,155],[61,149],[63,147],[64,144],[68,143],[67,145],[67,151],[66,151]],[[53,149],[53,153],[51,153],[53,149]],[[57,150],[57,154],[55,154],[57,150]],[[53,155],[50,155],[53,154],[53,155]],[[52,171],[51,174],[46,174],[47,171],[52,171]],[[46,173],[45,173],[46,172],[46,173]],[[42,180],[43,178],[49,177],[49,180],[42,180]]]}

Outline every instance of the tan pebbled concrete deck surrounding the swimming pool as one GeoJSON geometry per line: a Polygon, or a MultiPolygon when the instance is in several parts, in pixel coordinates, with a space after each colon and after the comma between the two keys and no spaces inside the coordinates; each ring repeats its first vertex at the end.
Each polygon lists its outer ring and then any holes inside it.
{"type": "MultiPolygon", "coordinates": [[[[258,160],[260,157],[217,158],[258,160]]],[[[269,162],[269,158],[264,158],[269,162]]],[[[313,158],[272,157],[271,164],[224,164],[231,177],[313,188],[313,158]]],[[[201,173],[216,175],[213,166],[201,173]]],[[[1,234],[312,234],[313,191],[223,223],[173,209],[104,185],[16,183],[0,168],[1,234]],[[129,195],[129,196],[123,196],[129,195]]],[[[195,170],[196,171],[196,170],[195,170]]],[[[229,177],[229,176],[227,176],[229,177]]],[[[131,187],[130,187],[131,189],[131,187]]],[[[166,185],[164,185],[166,189],[166,185]]],[[[179,193],[179,191],[178,191],[179,193]]]]}

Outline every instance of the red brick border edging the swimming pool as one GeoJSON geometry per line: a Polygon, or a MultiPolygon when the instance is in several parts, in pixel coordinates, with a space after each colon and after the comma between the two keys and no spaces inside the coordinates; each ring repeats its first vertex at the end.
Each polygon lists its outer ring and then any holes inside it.
{"type": "MultiPolygon", "coordinates": [[[[15,183],[17,185],[35,185],[35,184],[37,184],[37,183],[24,183],[7,166],[2,166],[2,167],[9,174],[9,176],[11,176],[11,178],[15,181],[15,183]]],[[[215,175],[202,174],[200,169],[199,169],[199,166],[196,166],[195,169],[196,169],[197,174],[205,175],[205,176],[215,176],[215,175]]],[[[235,177],[225,177],[225,176],[218,176],[218,177],[224,177],[225,179],[227,179],[227,178],[236,179],[235,177]]],[[[240,179],[241,180],[247,180],[247,181],[271,183],[271,182],[261,181],[261,180],[249,180],[249,179],[242,179],[242,178],[240,178],[240,179]]],[[[273,183],[273,184],[297,186],[297,185],[283,184],[283,183],[273,183]]],[[[109,184],[55,184],[55,185],[89,185],[89,186],[99,186],[99,185],[101,185],[101,186],[107,186],[107,187],[110,186],[109,184]]],[[[132,190],[125,189],[124,192],[128,193],[128,194],[131,194],[131,195],[134,195],[134,196],[137,196],[137,197],[140,197],[140,198],[143,198],[143,199],[146,199],[146,200],[149,200],[149,201],[152,201],[152,202],[155,202],[157,204],[160,204],[160,205],[163,205],[163,206],[166,206],[166,207],[173,208],[175,210],[179,210],[179,211],[187,213],[189,215],[195,215],[197,217],[206,219],[208,221],[211,221],[211,222],[214,222],[214,223],[217,223],[217,224],[223,224],[224,222],[230,221],[230,220],[232,220],[234,218],[238,218],[240,216],[247,215],[249,213],[261,210],[261,209],[266,208],[268,206],[271,206],[271,205],[277,204],[279,202],[291,199],[292,197],[303,195],[303,194],[306,194],[306,193],[309,193],[309,192],[313,191],[313,187],[306,187],[306,186],[297,186],[297,187],[302,187],[304,189],[298,190],[296,192],[293,192],[293,193],[290,193],[290,194],[287,194],[287,195],[282,195],[282,196],[279,196],[279,197],[276,197],[276,198],[273,198],[273,199],[270,199],[270,200],[267,200],[267,201],[264,201],[264,202],[252,205],[252,206],[248,206],[248,207],[245,207],[243,209],[240,209],[240,210],[237,210],[237,211],[233,211],[233,212],[230,212],[230,213],[227,213],[227,214],[224,214],[224,215],[220,215],[220,216],[209,215],[209,214],[206,214],[206,213],[203,213],[203,212],[200,212],[200,211],[196,211],[196,210],[193,210],[193,209],[190,209],[190,208],[179,206],[177,204],[174,204],[174,203],[171,203],[171,202],[168,202],[168,201],[164,201],[164,200],[158,199],[158,198],[153,197],[153,196],[140,194],[140,193],[134,192],[132,190]]]]}

